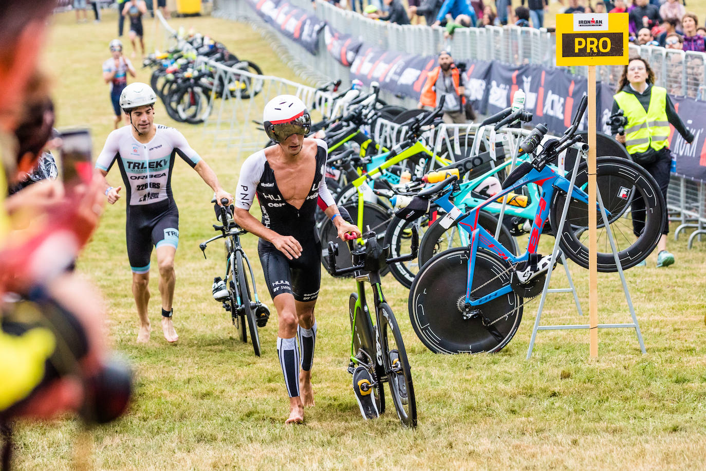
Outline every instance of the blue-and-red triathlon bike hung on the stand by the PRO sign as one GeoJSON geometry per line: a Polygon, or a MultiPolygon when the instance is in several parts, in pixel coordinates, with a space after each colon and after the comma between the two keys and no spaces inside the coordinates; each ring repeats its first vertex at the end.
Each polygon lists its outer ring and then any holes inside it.
{"type": "MultiPolygon", "coordinates": [[[[560,247],[568,258],[580,266],[588,266],[588,196],[587,165],[580,163],[574,186],[561,172],[547,164],[569,148],[578,148],[579,158],[585,158],[588,146],[576,136],[578,123],[586,108],[581,101],[573,125],[561,139],[546,141],[540,152],[539,142],[546,126],[538,125],[522,142],[522,153],[532,155],[503,182],[503,191],[457,220],[458,227],[469,232],[469,245],[437,254],[424,265],[414,279],[409,292],[409,317],[419,339],[437,353],[498,352],[510,342],[520,326],[522,306],[542,292],[546,273],[554,268],[553,256],[537,253],[544,223],[558,228],[563,216],[560,247]],[[496,197],[505,196],[528,183],[542,187],[537,214],[532,219],[527,250],[515,256],[483,227],[477,225],[477,215],[496,197]],[[566,214],[564,203],[570,193],[566,214]]],[[[446,223],[453,223],[459,212],[450,203],[450,177],[442,184],[420,193],[421,200],[436,200],[447,209],[446,223]]],[[[597,159],[597,186],[606,208],[609,227],[617,246],[621,266],[630,268],[644,260],[657,245],[664,222],[664,198],[654,178],[639,165],[620,157],[597,159]],[[640,209],[640,205],[642,208],[640,209]],[[631,209],[632,208],[632,209],[631,209]],[[642,211],[642,215],[637,215],[642,211]],[[638,235],[633,234],[631,219],[645,220],[638,235]],[[628,232],[629,231],[629,232],[628,232]]],[[[593,210],[598,211],[598,207],[593,210]]],[[[606,225],[598,214],[598,270],[617,270],[614,253],[606,237],[606,225]]],[[[558,229],[557,229],[558,230],[558,229]]]]}

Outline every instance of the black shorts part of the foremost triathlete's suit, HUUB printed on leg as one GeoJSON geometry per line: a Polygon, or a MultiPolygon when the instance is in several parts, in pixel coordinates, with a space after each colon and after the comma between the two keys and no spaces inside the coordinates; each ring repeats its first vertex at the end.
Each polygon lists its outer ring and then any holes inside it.
{"type": "MultiPolygon", "coordinates": [[[[317,238],[318,239],[318,238],[317,238]]],[[[321,287],[321,242],[301,242],[301,256],[289,260],[270,242],[260,239],[258,254],[270,296],[292,293],[300,302],[314,301],[321,287]]]]}

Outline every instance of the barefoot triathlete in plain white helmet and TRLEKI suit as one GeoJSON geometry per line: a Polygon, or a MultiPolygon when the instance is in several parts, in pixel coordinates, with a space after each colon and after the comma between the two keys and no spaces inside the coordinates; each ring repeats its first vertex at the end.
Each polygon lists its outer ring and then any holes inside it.
{"type": "MultiPolygon", "coordinates": [[[[109,134],[95,167],[105,177],[117,163],[127,191],[125,224],[128,259],[133,272],[132,291],[140,317],[137,341],[150,340],[150,257],[157,247],[162,295],[162,330],[168,342],[179,336],[172,323],[174,298],[174,254],[179,244],[179,210],[172,196],[172,168],[177,155],[191,165],[216,193],[216,201],[233,196],[218,184],[211,167],[189,147],[184,136],[174,128],[154,124],[157,95],[144,83],[131,83],[120,96],[120,107],[130,124],[109,134]]],[[[121,186],[105,182],[108,203],[120,198],[121,186]]]]}

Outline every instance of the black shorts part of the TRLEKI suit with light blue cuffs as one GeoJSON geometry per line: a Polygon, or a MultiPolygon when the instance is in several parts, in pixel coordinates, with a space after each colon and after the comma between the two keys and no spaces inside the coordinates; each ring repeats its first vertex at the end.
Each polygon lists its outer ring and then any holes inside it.
{"type": "Polygon", "coordinates": [[[128,205],[125,221],[128,260],[133,273],[150,271],[152,247],[179,246],[179,210],[174,201],[128,205]]]}

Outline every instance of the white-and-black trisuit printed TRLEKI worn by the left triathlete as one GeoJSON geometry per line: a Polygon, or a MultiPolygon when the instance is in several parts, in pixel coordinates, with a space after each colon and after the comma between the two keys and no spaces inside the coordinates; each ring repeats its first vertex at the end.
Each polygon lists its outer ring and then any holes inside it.
{"type": "Polygon", "coordinates": [[[108,172],[117,163],[127,193],[125,222],[128,259],[133,273],[150,270],[152,246],[179,244],[179,210],[172,196],[177,155],[191,167],[201,160],[174,128],[157,124],[148,144],[133,137],[132,126],[109,134],[95,167],[108,172]]]}

